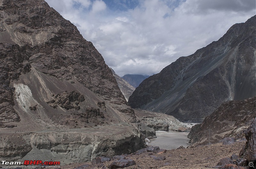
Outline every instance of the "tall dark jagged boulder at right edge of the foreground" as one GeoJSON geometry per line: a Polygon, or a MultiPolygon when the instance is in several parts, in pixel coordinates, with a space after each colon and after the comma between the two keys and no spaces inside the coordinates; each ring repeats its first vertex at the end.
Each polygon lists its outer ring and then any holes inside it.
{"type": "Polygon", "coordinates": [[[253,119],[252,124],[245,131],[245,138],[247,142],[240,151],[239,156],[248,161],[256,160],[256,118],[253,119]]]}

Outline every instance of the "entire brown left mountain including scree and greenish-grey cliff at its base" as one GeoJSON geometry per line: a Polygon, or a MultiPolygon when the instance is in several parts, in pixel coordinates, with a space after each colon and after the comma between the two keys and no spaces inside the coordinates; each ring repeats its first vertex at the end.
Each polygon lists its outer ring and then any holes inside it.
{"type": "Polygon", "coordinates": [[[145,147],[153,129],[76,26],[44,0],[0,0],[0,19],[0,157],[64,165],[145,147]]]}

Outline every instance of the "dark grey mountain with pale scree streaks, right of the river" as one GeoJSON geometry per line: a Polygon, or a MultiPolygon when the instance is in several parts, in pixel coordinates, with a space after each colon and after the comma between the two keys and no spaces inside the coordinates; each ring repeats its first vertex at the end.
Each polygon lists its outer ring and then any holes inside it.
{"type": "Polygon", "coordinates": [[[128,103],[182,121],[202,122],[225,101],[255,96],[255,19],[233,25],[218,41],[148,77],[128,103]]]}

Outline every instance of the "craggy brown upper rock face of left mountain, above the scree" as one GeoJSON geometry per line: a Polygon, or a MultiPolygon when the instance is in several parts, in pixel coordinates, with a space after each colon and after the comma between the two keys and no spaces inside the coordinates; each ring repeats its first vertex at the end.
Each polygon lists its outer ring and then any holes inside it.
{"type": "Polygon", "coordinates": [[[31,68],[77,81],[111,103],[125,104],[110,68],[91,42],[43,0],[0,0],[1,123],[19,121],[14,88],[31,68]]]}

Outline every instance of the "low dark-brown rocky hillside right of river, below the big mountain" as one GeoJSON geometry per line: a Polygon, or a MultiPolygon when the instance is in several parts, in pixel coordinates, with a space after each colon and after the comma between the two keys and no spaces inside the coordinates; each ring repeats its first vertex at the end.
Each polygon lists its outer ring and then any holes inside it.
{"type": "Polygon", "coordinates": [[[223,103],[202,124],[192,127],[188,137],[192,147],[197,145],[217,143],[225,137],[235,140],[244,137],[246,130],[256,117],[256,97],[243,101],[228,101],[223,103]]]}

